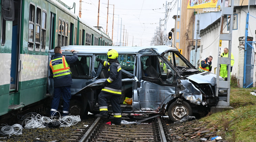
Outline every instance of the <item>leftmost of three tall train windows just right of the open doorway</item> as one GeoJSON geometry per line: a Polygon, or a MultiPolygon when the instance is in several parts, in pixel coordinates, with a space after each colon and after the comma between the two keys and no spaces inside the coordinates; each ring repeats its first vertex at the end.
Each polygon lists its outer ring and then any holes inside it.
{"type": "Polygon", "coordinates": [[[29,8],[29,33],[28,33],[28,49],[34,48],[34,20],[35,20],[35,6],[30,4],[29,8]]]}

